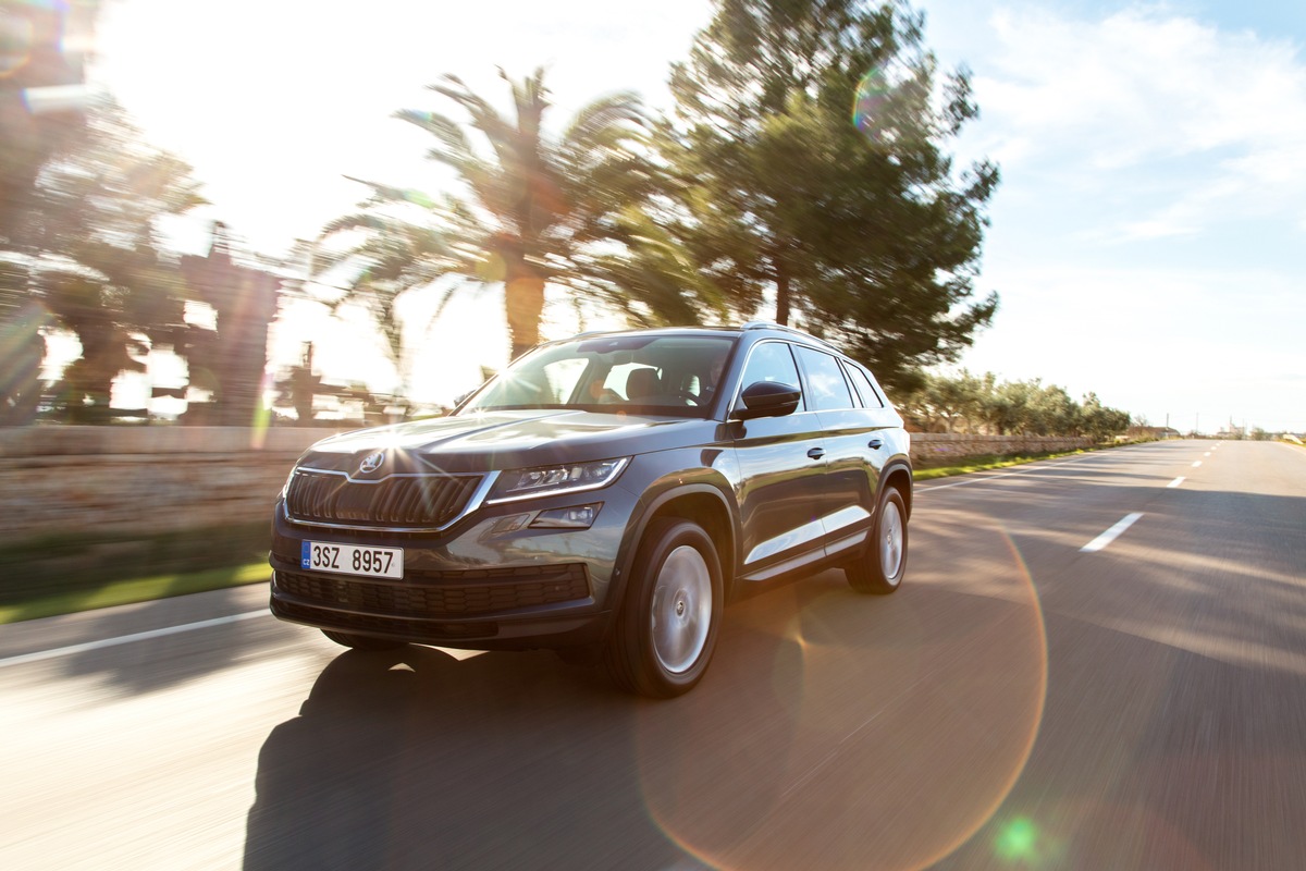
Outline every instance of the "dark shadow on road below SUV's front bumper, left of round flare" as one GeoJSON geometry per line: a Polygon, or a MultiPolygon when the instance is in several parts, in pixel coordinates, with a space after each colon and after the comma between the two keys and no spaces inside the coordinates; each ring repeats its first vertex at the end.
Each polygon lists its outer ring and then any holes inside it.
{"type": "Polygon", "coordinates": [[[550,653],[346,652],[260,751],[244,867],[696,867],[644,808],[639,704],[550,653]]]}

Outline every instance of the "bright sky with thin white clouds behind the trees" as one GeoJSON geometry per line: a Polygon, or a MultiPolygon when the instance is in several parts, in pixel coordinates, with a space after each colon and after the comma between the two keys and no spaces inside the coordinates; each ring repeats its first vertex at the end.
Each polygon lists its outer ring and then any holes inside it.
{"type": "MultiPolygon", "coordinates": [[[[940,69],[972,74],[981,116],[953,144],[959,166],[1002,171],[976,285],[1002,303],[959,366],[1183,432],[1306,431],[1306,4],[914,8],[940,69]]],[[[202,221],[221,218],[279,255],[362,198],[346,175],[451,184],[426,135],[390,118],[445,111],[424,87],[441,74],[495,97],[498,68],[542,65],[559,123],[618,90],[665,110],[669,67],[709,18],[707,0],[107,0],[91,76],[204,183],[213,205],[178,244],[202,251],[202,221]]],[[[602,325],[555,303],[549,338],[602,325]]],[[[414,392],[448,401],[502,366],[500,306],[461,293],[431,321],[414,300],[414,392]]],[[[329,377],[375,372],[360,321],[291,306],[276,362],[313,340],[329,377]]]]}

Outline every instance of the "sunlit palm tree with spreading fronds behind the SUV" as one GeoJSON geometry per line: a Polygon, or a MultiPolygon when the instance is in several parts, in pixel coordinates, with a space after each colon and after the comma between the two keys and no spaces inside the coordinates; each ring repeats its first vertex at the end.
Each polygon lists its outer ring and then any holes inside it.
{"type": "MultiPolygon", "coordinates": [[[[349,298],[374,309],[392,345],[394,300],[411,287],[457,274],[503,282],[512,356],[539,341],[545,286],[562,285],[622,307],[628,299],[611,282],[586,273],[581,255],[593,243],[626,240],[623,210],[652,189],[641,154],[645,119],[639,98],[618,93],[584,107],[556,138],[542,129],[549,108],[543,69],[522,81],[499,71],[512,91],[505,118],[456,76],[431,85],[468,115],[468,123],[417,110],[397,118],[431,133],[431,159],[452,167],[464,196],[440,201],[413,191],[364,182],[372,196],[362,212],[329,223],[323,235],[360,234],[362,242],[320,261],[362,264],[349,298]],[[417,212],[419,219],[410,215],[417,212]]],[[[355,179],[358,180],[358,179],[355,179]]],[[[451,291],[452,293],[452,291],[451,291]]],[[[398,347],[393,347],[398,353],[398,347]]]]}

